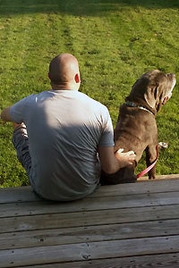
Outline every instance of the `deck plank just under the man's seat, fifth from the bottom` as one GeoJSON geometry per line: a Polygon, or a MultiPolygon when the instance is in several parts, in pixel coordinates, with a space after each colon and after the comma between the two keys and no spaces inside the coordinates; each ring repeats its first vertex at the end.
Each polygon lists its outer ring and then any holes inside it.
{"type": "Polygon", "coordinates": [[[150,193],[141,195],[95,197],[82,200],[56,203],[56,202],[27,202],[0,205],[0,218],[32,214],[57,214],[70,212],[84,212],[106,210],[116,208],[129,208],[152,205],[176,205],[179,204],[178,192],[150,193]]]}

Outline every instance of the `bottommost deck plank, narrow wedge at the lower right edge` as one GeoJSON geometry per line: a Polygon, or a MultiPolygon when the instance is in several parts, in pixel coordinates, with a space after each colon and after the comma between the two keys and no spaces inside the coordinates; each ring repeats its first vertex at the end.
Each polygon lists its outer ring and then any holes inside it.
{"type": "MultiPolygon", "coordinates": [[[[109,258],[100,260],[90,260],[81,262],[72,262],[66,264],[42,264],[33,265],[33,268],[178,268],[179,253],[161,254],[161,255],[141,255],[121,258],[109,258]]],[[[21,268],[31,268],[31,266],[22,266],[21,268]]]]}

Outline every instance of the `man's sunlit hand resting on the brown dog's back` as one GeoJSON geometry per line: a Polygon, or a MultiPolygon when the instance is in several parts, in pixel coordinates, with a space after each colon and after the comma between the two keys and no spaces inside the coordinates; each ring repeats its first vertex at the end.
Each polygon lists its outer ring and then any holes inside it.
{"type": "Polygon", "coordinates": [[[136,158],[136,155],[133,151],[129,151],[127,153],[123,153],[124,149],[118,149],[115,152],[115,157],[119,161],[121,168],[132,164],[136,158]]]}

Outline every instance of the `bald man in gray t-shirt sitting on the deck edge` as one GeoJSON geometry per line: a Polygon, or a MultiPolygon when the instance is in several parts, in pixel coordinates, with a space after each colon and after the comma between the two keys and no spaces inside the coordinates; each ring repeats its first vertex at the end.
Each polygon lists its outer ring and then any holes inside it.
{"type": "Polygon", "coordinates": [[[79,64],[59,54],[49,65],[51,90],[27,96],[1,113],[13,121],[13,145],[30,185],[39,196],[58,201],[86,197],[107,173],[132,164],[132,151],[114,154],[107,107],[78,91],[79,64]]]}

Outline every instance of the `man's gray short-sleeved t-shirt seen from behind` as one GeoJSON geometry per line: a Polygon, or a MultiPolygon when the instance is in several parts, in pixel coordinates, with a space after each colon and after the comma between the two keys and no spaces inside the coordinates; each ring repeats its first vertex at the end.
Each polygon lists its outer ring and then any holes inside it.
{"type": "Polygon", "coordinates": [[[42,197],[72,200],[98,186],[98,147],[112,147],[107,107],[77,90],[27,96],[10,110],[24,122],[30,142],[30,184],[42,197]]]}

